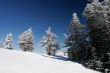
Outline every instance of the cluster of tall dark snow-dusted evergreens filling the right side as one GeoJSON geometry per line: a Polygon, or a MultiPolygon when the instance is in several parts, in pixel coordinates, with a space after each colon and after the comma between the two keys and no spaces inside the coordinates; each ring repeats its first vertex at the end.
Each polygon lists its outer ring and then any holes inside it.
{"type": "Polygon", "coordinates": [[[110,0],[91,0],[83,15],[86,25],[74,13],[69,26],[65,39],[69,59],[94,70],[110,71],[110,0]]]}

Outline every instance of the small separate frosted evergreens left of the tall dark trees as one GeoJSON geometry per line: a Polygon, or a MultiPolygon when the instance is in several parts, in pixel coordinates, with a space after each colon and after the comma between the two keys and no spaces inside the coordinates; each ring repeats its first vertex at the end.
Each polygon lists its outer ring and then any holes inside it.
{"type": "MultiPolygon", "coordinates": [[[[40,44],[46,48],[48,55],[55,55],[56,51],[60,48],[57,40],[57,36],[51,31],[51,27],[46,31],[46,36],[43,36],[40,44]]],[[[1,48],[13,49],[13,35],[7,34],[4,43],[0,43],[1,48]]],[[[24,31],[18,40],[18,44],[23,51],[31,52],[34,49],[34,35],[31,28],[24,31]]]]}

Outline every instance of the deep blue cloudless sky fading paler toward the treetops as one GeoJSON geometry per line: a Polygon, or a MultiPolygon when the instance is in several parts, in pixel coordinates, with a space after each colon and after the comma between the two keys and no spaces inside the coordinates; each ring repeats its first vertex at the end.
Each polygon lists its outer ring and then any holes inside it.
{"type": "Polygon", "coordinates": [[[14,36],[13,46],[20,50],[18,36],[32,27],[35,51],[43,52],[45,49],[39,46],[39,41],[50,26],[63,46],[63,33],[67,33],[73,12],[77,12],[84,23],[82,12],[86,3],[86,0],[0,0],[0,42],[11,32],[14,36]]]}

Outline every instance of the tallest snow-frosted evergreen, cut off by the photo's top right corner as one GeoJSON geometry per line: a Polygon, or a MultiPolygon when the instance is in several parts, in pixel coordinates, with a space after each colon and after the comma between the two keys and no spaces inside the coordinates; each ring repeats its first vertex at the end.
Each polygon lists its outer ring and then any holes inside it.
{"type": "Polygon", "coordinates": [[[87,17],[87,25],[89,28],[89,36],[91,38],[91,46],[95,47],[97,58],[94,62],[102,62],[102,66],[95,67],[95,70],[104,71],[106,62],[108,62],[107,53],[110,52],[110,0],[93,0],[87,4],[84,15],[87,17]]]}

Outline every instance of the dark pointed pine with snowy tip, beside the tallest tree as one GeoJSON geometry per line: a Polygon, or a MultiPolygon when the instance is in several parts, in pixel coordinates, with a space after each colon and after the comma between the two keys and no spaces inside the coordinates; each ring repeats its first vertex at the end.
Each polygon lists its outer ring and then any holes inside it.
{"type": "Polygon", "coordinates": [[[82,30],[85,28],[79,21],[77,14],[73,14],[73,19],[69,26],[69,34],[65,39],[65,45],[68,47],[69,59],[77,62],[84,60],[86,54],[86,42],[85,32],[82,30]]]}

